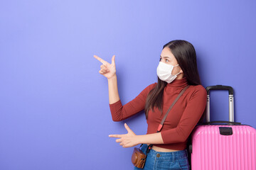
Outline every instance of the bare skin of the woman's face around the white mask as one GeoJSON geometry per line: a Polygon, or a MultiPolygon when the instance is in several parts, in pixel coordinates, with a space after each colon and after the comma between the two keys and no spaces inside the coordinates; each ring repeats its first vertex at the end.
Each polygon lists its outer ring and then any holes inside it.
{"type": "MultiPolygon", "coordinates": [[[[173,66],[178,65],[178,62],[174,57],[174,55],[171,53],[171,50],[169,49],[169,47],[164,47],[164,49],[162,50],[160,55],[160,62],[164,62],[166,64],[170,64],[173,66]]],[[[176,66],[174,67],[171,74],[175,75],[175,74],[178,74],[179,72],[183,73],[181,67],[176,66]]],[[[178,77],[176,79],[181,79],[182,77],[183,77],[183,74],[178,74],[178,77]]]]}

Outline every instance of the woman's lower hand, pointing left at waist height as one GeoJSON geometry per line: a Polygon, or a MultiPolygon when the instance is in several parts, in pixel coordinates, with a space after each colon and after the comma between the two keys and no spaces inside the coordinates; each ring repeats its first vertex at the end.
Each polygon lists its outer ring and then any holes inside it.
{"type": "Polygon", "coordinates": [[[117,137],[119,139],[116,142],[120,143],[122,147],[134,147],[139,145],[137,141],[138,136],[128,127],[126,123],[124,123],[124,128],[127,129],[127,134],[124,135],[109,135],[109,137],[117,137]]]}

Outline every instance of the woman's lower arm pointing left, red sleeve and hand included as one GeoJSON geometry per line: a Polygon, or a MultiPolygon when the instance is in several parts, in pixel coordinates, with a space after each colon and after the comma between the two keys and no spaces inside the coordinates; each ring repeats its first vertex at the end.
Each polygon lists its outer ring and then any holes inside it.
{"type": "Polygon", "coordinates": [[[188,102],[181,120],[176,128],[156,132],[149,135],[135,135],[129,127],[124,124],[127,129],[127,134],[124,135],[110,135],[110,137],[117,137],[116,142],[120,142],[122,147],[134,147],[139,144],[168,144],[176,142],[184,142],[190,135],[193,128],[201,118],[204,109],[206,108],[206,89],[203,86],[198,86],[188,102]]]}

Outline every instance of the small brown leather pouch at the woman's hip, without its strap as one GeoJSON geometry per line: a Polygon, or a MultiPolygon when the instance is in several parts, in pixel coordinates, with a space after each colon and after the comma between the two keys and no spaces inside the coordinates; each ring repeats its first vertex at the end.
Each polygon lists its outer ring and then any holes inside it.
{"type": "Polygon", "coordinates": [[[132,164],[137,168],[143,169],[145,162],[146,154],[144,154],[138,147],[134,147],[134,152],[132,153],[132,164]]]}

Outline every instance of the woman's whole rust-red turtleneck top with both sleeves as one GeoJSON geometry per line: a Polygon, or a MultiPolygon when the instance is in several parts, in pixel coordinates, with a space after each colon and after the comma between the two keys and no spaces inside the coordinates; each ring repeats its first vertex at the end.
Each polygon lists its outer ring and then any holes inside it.
{"type": "MultiPolygon", "coordinates": [[[[181,90],[187,86],[186,78],[175,79],[164,88],[163,113],[171,106],[181,90]]],[[[110,104],[110,111],[114,121],[121,121],[144,110],[146,96],[151,89],[154,89],[156,83],[146,87],[136,98],[122,106],[121,101],[110,104]]],[[[203,86],[189,86],[184,94],[178,99],[174,107],[169,112],[164,126],[161,129],[163,145],[155,145],[166,149],[183,150],[186,149],[188,136],[196,126],[203,111],[206,108],[206,89],[203,86]]],[[[155,133],[164,116],[158,108],[149,111],[146,120],[148,124],[146,134],[155,133]]]]}

